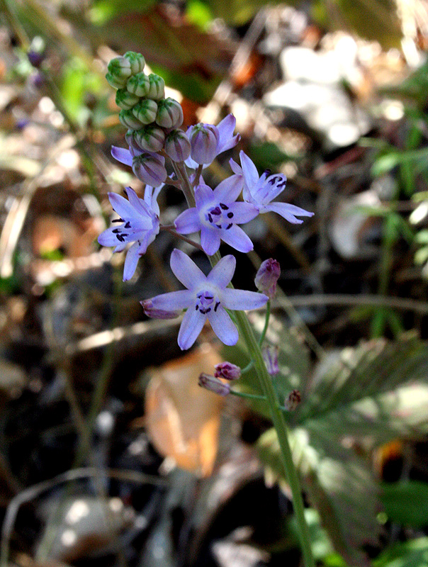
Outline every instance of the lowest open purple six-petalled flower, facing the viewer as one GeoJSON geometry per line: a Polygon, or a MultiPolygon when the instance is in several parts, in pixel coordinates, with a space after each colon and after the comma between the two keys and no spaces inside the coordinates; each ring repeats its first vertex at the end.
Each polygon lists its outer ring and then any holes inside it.
{"type": "Polygon", "coordinates": [[[225,256],[210,271],[208,276],[184,252],[174,249],[171,254],[171,269],[187,289],[163,293],[142,301],[145,313],[187,309],[179,330],[179,347],[189,349],[198,338],[205,321],[213,327],[215,335],[225,344],[236,344],[237,328],[226,309],[249,310],[262,307],[267,296],[255,291],[227,288],[235,273],[236,259],[225,256]]]}

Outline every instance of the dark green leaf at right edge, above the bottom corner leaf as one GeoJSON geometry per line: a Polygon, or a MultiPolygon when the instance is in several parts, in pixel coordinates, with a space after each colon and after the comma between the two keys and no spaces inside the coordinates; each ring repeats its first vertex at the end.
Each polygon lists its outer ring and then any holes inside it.
{"type": "Polygon", "coordinates": [[[419,481],[383,483],[381,500],[388,518],[405,526],[428,526],[428,484],[419,481]]]}

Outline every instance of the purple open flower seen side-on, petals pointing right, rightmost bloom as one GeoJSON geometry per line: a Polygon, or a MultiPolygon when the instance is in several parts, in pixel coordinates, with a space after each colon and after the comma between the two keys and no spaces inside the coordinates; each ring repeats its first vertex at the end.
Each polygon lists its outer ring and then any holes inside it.
{"type": "Polygon", "coordinates": [[[240,152],[241,166],[240,167],[233,159],[230,159],[230,167],[232,172],[241,175],[244,178],[244,190],[242,196],[244,201],[252,203],[257,206],[259,213],[268,213],[270,210],[273,213],[278,213],[281,217],[288,220],[289,223],[300,224],[303,220],[296,218],[312,217],[314,213],[310,213],[304,208],[290,205],[289,203],[271,203],[286,187],[287,178],[284,174],[273,174],[266,170],[261,176],[257,172],[257,167],[251,159],[244,152],[240,152]]]}

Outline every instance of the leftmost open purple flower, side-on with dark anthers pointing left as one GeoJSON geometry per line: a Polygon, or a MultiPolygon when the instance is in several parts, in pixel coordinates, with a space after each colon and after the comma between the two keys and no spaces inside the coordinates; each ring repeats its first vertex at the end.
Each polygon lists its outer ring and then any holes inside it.
{"type": "Polygon", "coordinates": [[[101,246],[114,246],[113,252],[122,252],[129,242],[134,242],[126,254],[123,281],[133,277],[138,259],[159,233],[157,196],[161,189],[162,186],[146,186],[144,200],[130,187],[125,189],[129,201],[117,193],[108,193],[111,206],[120,216],[113,223],[121,224],[101,232],[98,242],[101,246]]]}

